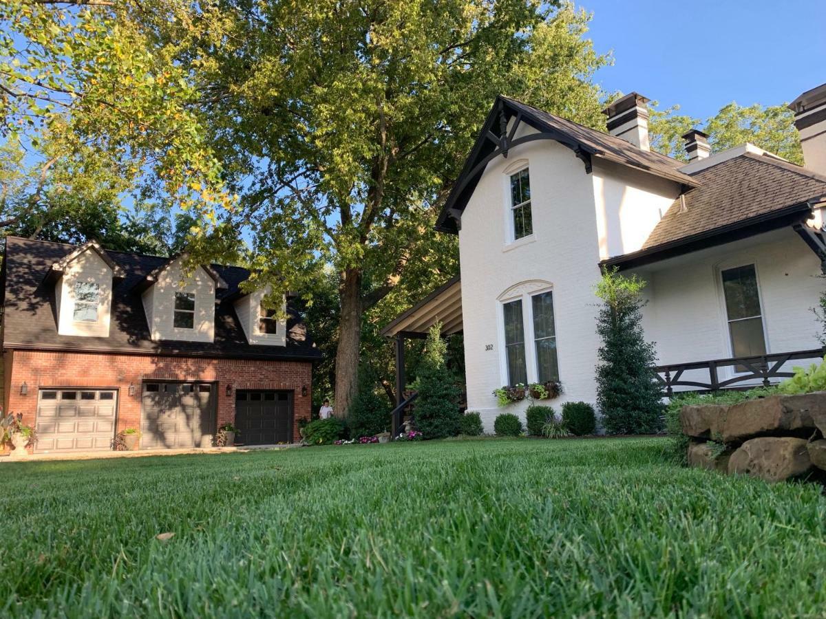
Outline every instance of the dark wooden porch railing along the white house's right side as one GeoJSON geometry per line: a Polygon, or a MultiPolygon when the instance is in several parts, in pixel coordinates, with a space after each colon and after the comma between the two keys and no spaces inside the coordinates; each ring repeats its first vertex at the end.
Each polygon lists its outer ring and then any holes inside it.
{"type": "Polygon", "coordinates": [[[815,360],[824,356],[823,348],[797,352],[779,352],[757,357],[735,357],[732,359],[714,359],[714,361],[695,361],[693,363],[672,363],[668,366],[657,367],[657,377],[665,388],[666,395],[674,395],[675,387],[684,387],[679,391],[717,391],[723,389],[752,389],[755,386],[769,386],[781,378],[794,376],[790,368],[783,370],[789,361],[799,359],[815,360]],[[736,373],[729,378],[720,380],[721,368],[734,367],[736,373]],[[708,380],[686,380],[683,375],[687,371],[705,370],[708,380]],[[759,380],[760,385],[753,381],[759,380]],[[744,384],[746,383],[746,384],[744,384]]]}

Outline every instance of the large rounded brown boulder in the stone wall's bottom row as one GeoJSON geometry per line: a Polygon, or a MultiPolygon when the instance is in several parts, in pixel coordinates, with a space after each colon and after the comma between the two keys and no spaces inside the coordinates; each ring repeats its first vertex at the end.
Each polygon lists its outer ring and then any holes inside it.
{"type": "Polygon", "coordinates": [[[804,438],[761,437],[746,441],[729,459],[729,473],[744,473],[766,481],[783,481],[812,468],[804,438]]]}

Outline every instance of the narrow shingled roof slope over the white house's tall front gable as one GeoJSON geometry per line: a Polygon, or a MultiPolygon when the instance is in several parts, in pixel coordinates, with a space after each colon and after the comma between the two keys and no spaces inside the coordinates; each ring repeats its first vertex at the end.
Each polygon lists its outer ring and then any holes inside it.
{"type": "Polygon", "coordinates": [[[516,101],[510,97],[502,98],[517,110],[534,116],[537,120],[544,123],[544,125],[547,125],[548,128],[558,130],[578,144],[586,146],[586,148],[598,158],[608,159],[615,163],[622,163],[632,168],[651,172],[659,177],[684,183],[689,187],[695,187],[700,184],[697,178],[690,177],[677,169],[686,165],[681,161],[677,161],[653,150],[640,149],[622,138],[591,129],[591,127],[586,127],[585,125],[580,125],[562,116],[555,116],[547,111],[540,110],[538,107],[529,106],[526,103],[516,101]]]}

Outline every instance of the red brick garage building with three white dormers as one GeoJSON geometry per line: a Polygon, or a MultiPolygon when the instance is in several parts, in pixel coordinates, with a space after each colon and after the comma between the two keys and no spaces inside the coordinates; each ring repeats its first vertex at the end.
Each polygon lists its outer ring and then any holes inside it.
{"type": "Polygon", "coordinates": [[[111,448],[126,428],[140,448],[207,447],[225,423],[242,444],[299,439],[320,353],[245,292],[249,272],[87,243],[7,239],[3,404],[36,428],[36,451],[111,448]]]}

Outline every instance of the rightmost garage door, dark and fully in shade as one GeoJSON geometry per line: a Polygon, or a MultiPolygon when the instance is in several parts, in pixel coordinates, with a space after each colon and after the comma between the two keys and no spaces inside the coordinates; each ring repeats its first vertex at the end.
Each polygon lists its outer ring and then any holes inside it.
{"type": "Polygon", "coordinates": [[[235,426],[243,445],[292,442],[292,392],[235,391],[235,426]]]}

